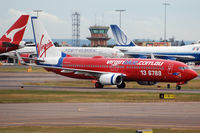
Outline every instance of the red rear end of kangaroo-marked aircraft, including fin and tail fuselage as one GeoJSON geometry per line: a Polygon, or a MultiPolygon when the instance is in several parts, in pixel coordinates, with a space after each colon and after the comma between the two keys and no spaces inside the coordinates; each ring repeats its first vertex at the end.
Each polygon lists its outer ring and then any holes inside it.
{"type": "Polygon", "coordinates": [[[0,53],[22,48],[22,41],[29,15],[22,15],[0,39],[0,53]]]}

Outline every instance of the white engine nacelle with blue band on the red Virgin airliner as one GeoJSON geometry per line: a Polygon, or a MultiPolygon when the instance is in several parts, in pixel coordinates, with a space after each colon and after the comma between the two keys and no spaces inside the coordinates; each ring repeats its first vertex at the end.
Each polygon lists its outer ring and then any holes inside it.
{"type": "Polygon", "coordinates": [[[109,73],[103,74],[99,78],[99,82],[102,85],[120,85],[123,82],[121,74],[109,73]]]}

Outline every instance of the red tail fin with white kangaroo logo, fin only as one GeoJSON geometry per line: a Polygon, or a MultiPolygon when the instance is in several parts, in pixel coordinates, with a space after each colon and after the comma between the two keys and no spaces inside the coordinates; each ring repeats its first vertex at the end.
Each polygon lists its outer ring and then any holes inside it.
{"type": "Polygon", "coordinates": [[[29,15],[22,15],[10,29],[1,37],[0,41],[19,44],[23,38],[29,15]]]}

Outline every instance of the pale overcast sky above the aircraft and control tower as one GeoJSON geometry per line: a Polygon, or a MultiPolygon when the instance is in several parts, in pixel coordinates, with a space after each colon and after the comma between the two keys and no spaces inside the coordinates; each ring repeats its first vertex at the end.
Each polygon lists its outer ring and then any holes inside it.
{"type": "MultiPolygon", "coordinates": [[[[32,11],[43,10],[39,18],[51,38],[72,38],[74,11],[81,14],[81,39],[90,36],[91,25],[119,25],[116,9],[122,13],[122,29],[131,39],[159,40],[164,32],[165,0],[0,0],[0,34],[22,14],[36,15],[32,11]]],[[[167,38],[200,40],[200,0],[167,0],[167,38]]],[[[112,37],[109,31],[109,36],[112,37]]],[[[30,20],[25,39],[33,38],[30,20]]],[[[113,38],[113,37],[112,37],[113,38]]]]}

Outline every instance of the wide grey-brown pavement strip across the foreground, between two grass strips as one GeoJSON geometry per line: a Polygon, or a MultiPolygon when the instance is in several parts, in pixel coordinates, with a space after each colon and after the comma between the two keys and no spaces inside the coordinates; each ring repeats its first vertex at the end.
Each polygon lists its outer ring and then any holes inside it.
{"type": "Polygon", "coordinates": [[[0,104],[0,126],[200,129],[200,102],[0,104]]]}

